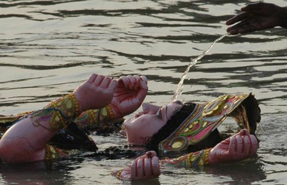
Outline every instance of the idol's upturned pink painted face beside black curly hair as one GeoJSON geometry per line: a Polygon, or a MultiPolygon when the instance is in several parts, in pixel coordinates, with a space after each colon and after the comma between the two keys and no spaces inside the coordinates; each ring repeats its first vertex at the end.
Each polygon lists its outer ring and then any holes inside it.
{"type": "Polygon", "coordinates": [[[143,103],[143,112],[138,113],[134,118],[126,119],[124,126],[127,131],[130,144],[146,144],[151,136],[158,132],[171,118],[175,110],[182,107],[180,101],[169,103],[159,107],[143,103]]]}

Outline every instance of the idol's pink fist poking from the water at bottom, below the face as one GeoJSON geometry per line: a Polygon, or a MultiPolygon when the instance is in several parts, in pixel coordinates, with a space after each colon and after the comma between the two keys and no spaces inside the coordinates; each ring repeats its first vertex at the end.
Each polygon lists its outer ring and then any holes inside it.
{"type": "Polygon", "coordinates": [[[159,159],[156,152],[148,151],[135,159],[132,164],[119,172],[113,172],[113,176],[121,179],[141,180],[155,178],[160,175],[159,159]]]}

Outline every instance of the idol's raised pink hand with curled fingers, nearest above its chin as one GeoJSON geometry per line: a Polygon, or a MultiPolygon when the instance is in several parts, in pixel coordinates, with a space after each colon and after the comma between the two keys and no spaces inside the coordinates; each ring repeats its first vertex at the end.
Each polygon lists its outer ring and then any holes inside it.
{"type": "Polygon", "coordinates": [[[121,76],[110,104],[114,118],[122,118],[136,111],[143,103],[147,90],[145,76],[121,76]]]}

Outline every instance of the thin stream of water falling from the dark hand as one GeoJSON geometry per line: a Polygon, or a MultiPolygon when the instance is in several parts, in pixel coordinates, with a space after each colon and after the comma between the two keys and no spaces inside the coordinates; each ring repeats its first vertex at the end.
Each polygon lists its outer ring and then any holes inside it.
{"type": "Polygon", "coordinates": [[[176,91],[175,91],[175,94],[174,94],[173,97],[172,97],[172,101],[177,100],[177,97],[182,94],[183,81],[184,81],[184,79],[185,79],[187,73],[189,72],[189,69],[190,69],[192,66],[194,66],[194,65],[197,63],[198,60],[200,60],[202,57],[204,57],[204,56],[212,49],[213,45],[214,45],[217,41],[221,40],[222,38],[224,38],[224,37],[227,36],[227,35],[228,35],[228,33],[225,34],[225,35],[222,35],[222,36],[220,36],[219,38],[217,38],[216,40],[214,40],[214,41],[212,42],[212,44],[210,45],[210,47],[209,47],[207,50],[203,51],[201,54],[198,55],[198,57],[196,57],[196,58],[194,58],[194,59],[191,60],[191,62],[190,62],[189,65],[187,66],[186,70],[184,71],[183,75],[181,76],[181,79],[180,79],[180,82],[179,82],[178,85],[177,85],[177,89],[176,89],[176,91]]]}

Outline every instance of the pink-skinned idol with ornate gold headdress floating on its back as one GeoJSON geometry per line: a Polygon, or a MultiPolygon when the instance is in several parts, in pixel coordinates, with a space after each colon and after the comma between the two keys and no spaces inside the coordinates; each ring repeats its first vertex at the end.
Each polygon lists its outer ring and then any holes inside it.
{"type": "Polygon", "coordinates": [[[108,128],[141,105],[143,111],[126,119],[121,133],[127,135],[129,144],[144,145],[147,152],[112,173],[118,178],[154,178],[164,166],[193,168],[256,154],[260,108],[253,95],[223,95],[203,104],[174,101],[159,107],[143,103],[147,90],[145,76],[115,80],[93,74],[43,109],[2,116],[0,159],[6,163],[54,161],[79,152],[97,152],[85,130],[108,128]],[[237,122],[238,133],[220,133],[218,126],[227,117],[237,122]]]}

